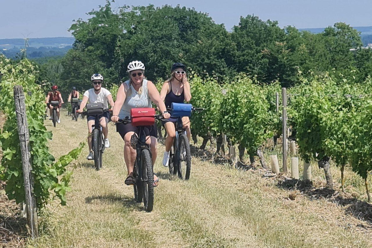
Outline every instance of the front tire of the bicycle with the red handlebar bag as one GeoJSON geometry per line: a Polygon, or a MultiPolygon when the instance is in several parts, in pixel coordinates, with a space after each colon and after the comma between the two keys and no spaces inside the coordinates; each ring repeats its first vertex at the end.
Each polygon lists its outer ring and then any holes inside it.
{"type": "Polygon", "coordinates": [[[142,150],[140,161],[142,163],[143,176],[143,180],[140,181],[142,184],[143,205],[147,212],[151,212],[154,207],[154,171],[149,150],[142,150]]]}

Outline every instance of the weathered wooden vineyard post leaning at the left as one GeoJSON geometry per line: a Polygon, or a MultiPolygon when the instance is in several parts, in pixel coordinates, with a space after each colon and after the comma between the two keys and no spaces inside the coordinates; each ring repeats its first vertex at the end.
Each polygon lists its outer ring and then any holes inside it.
{"type": "Polygon", "coordinates": [[[32,167],[31,167],[31,154],[30,154],[30,146],[29,146],[30,134],[29,134],[29,127],[27,124],[27,117],[26,117],[25,94],[23,93],[22,86],[15,86],[13,90],[14,90],[14,101],[16,104],[19,145],[21,148],[21,155],[22,155],[22,168],[23,168],[23,180],[25,184],[27,223],[30,228],[31,237],[35,238],[38,236],[37,210],[36,210],[36,199],[35,199],[35,196],[33,195],[33,177],[31,173],[32,167]]]}

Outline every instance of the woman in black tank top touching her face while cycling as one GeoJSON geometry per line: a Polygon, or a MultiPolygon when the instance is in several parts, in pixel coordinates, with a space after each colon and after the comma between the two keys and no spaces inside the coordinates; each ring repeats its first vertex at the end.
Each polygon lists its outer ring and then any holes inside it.
{"type": "MultiPolygon", "coordinates": [[[[171,67],[171,78],[166,80],[160,91],[160,97],[165,101],[165,106],[171,108],[172,103],[184,103],[191,100],[190,84],[186,77],[186,66],[183,63],[174,63],[171,67]]],[[[173,140],[176,137],[176,130],[174,124],[177,122],[177,118],[169,118],[166,121],[162,121],[166,131],[167,138],[165,139],[165,152],[163,156],[163,165],[168,166],[169,164],[169,151],[173,145],[173,140]]],[[[187,139],[190,140],[190,119],[183,117],[182,122],[186,129],[187,139]]]]}

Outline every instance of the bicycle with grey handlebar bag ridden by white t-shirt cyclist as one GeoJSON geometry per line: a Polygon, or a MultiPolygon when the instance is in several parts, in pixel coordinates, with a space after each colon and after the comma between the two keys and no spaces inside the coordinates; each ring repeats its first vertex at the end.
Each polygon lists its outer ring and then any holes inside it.
{"type": "Polygon", "coordinates": [[[83,111],[82,115],[95,116],[94,124],[92,125],[92,150],[94,167],[96,171],[102,168],[102,158],[105,152],[105,141],[102,133],[102,127],[99,122],[99,116],[109,109],[103,109],[102,103],[87,104],[87,111],[83,111]]]}

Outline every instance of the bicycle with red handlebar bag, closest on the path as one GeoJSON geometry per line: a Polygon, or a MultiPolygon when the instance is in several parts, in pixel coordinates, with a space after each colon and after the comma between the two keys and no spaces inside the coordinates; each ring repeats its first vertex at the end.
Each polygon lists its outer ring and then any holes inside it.
{"type": "Polygon", "coordinates": [[[154,207],[154,170],[150,145],[146,144],[144,128],[145,126],[153,125],[155,119],[160,120],[161,116],[155,115],[155,109],[136,109],[136,111],[147,113],[148,116],[141,116],[142,120],[140,117],[137,118],[138,120],[135,120],[136,117],[131,114],[131,119],[128,117],[119,119],[118,123],[132,123],[138,127],[136,132],[138,136],[134,134],[130,140],[132,148],[137,151],[133,170],[133,176],[136,178],[136,183],[133,185],[134,198],[137,202],[142,202],[143,200],[145,210],[151,212],[154,207]],[[147,118],[147,120],[143,121],[144,118],[147,118]],[[134,122],[137,122],[137,124],[134,122]]]}

